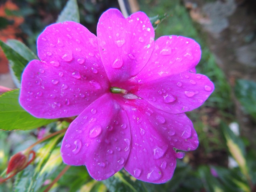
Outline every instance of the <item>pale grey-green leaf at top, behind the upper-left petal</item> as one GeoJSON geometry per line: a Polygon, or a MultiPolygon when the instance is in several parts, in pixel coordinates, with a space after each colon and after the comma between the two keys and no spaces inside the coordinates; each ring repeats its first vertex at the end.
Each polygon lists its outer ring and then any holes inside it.
{"type": "Polygon", "coordinates": [[[80,22],[79,9],[76,0],[69,0],[58,16],[56,23],[64,21],[75,21],[80,22]]]}

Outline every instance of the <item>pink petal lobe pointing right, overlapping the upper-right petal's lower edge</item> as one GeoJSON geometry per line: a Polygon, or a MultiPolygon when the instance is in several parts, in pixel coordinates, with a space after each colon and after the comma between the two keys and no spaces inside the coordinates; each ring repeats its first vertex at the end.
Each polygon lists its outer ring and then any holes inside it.
{"type": "Polygon", "coordinates": [[[177,114],[201,106],[213,92],[214,85],[205,75],[182,72],[123,88],[157,109],[177,114]]]}

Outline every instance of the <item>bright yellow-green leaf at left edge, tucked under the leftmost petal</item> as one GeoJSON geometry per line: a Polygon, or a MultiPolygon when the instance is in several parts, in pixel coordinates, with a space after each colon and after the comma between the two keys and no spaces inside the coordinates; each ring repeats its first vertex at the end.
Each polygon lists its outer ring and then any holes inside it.
{"type": "Polygon", "coordinates": [[[56,121],[56,119],[40,119],[30,115],[20,106],[18,98],[19,89],[0,96],[0,129],[29,130],[56,121]]]}

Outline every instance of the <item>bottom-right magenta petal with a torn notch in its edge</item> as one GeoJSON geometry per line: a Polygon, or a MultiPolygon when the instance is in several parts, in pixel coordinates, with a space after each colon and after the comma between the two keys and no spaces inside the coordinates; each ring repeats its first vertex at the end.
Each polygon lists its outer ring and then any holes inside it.
{"type": "Polygon", "coordinates": [[[193,125],[184,113],[166,113],[143,99],[128,103],[132,106],[126,108],[132,140],[124,168],[137,179],[164,183],[174,173],[176,158],[184,156],[173,148],[189,151],[198,146],[193,125]]]}

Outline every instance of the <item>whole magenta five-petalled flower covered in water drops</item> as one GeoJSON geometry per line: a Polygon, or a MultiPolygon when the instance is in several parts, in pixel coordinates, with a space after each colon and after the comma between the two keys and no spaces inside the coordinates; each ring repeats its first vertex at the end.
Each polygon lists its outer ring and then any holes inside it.
{"type": "Polygon", "coordinates": [[[198,146],[186,117],[214,89],[195,73],[200,46],[181,36],[154,41],[143,12],[125,19],[117,9],[102,14],[97,37],[75,22],[48,26],[37,40],[41,61],[22,76],[20,104],[40,118],[78,116],[61,146],[63,161],[86,165],[96,180],[127,170],[163,183],[176,158],[198,146]]]}

